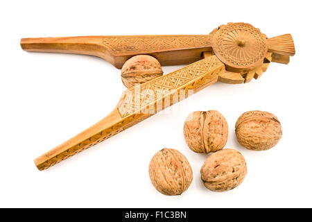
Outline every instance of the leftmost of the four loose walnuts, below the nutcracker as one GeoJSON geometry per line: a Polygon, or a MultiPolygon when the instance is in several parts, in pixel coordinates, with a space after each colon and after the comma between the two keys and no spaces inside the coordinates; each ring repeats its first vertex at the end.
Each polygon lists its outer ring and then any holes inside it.
{"type": "Polygon", "coordinates": [[[187,158],[173,148],[158,151],[148,169],[154,187],[165,195],[180,195],[189,188],[193,171],[187,158]]]}

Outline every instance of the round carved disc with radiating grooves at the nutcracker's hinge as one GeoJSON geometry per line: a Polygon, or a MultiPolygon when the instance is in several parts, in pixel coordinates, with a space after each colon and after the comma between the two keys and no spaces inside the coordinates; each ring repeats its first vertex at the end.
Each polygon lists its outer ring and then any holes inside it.
{"type": "Polygon", "coordinates": [[[268,51],[266,36],[258,28],[245,23],[222,26],[213,37],[216,56],[237,69],[250,69],[261,65],[268,51]]]}

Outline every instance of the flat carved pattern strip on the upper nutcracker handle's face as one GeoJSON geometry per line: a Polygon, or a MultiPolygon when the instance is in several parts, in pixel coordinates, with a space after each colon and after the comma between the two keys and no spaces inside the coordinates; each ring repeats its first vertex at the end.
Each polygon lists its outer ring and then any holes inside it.
{"type": "Polygon", "coordinates": [[[113,53],[168,51],[211,46],[211,35],[153,35],[103,37],[113,53]]]}

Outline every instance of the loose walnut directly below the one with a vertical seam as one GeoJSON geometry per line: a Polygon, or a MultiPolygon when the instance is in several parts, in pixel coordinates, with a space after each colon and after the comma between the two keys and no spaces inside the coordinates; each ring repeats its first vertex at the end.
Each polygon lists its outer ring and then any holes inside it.
{"type": "Polygon", "coordinates": [[[202,182],[211,191],[223,192],[234,189],[247,174],[245,158],[239,151],[225,148],[211,154],[200,169],[202,182]]]}

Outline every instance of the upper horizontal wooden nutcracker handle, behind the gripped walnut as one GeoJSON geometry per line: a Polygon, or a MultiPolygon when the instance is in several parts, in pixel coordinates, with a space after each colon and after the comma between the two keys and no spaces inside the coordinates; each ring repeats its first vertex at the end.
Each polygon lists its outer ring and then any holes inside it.
{"type": "Polygon", "coordinates": [[[183,65],[211,51],[211,35],[123,35],[37,37],[21,39],[25,51],[98,56],[121,69],[132,56],[148,54],[161,65],[183,65]]]}

